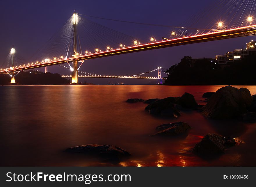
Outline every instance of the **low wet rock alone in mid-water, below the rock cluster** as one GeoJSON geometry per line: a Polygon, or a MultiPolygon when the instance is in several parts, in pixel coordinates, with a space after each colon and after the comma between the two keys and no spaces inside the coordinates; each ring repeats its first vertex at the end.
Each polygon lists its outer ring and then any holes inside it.
{"type": "Polygon", "coordinates": [[[175,136],[175,135],[185,133],[190,128],[191,127],[189,126],[189,124],[185,122],[162,124],[156,127],[157,130],[161,130],[161,131],[153,134],[152,136],[155,136],[155,135],[175,136]]]}

